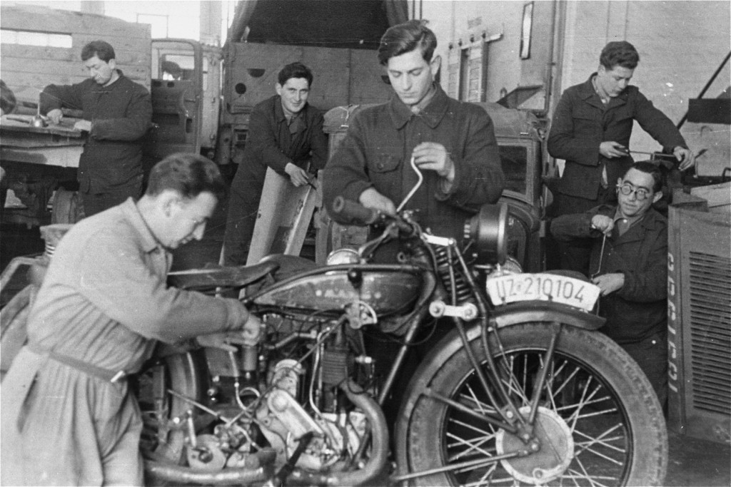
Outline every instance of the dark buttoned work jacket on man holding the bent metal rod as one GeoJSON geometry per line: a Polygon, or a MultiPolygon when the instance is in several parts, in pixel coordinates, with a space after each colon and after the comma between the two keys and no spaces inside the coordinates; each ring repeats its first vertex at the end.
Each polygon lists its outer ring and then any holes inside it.
{"type": "Polygon", "coordinates": [[[466,219],[482,204],[499,199],[505,178],[493,121],[481,107],[451,99],[439,85],[436,90],[419,115],[395,95],[355,115],[325,169],[327,208],[336,196],[357,202],[360,193],[371,187],[398,207],[417,182],[410,163],[421,142],[444,145],[455,164],[448,192],[436,172],[423,171],[423,185],[406,204],[406,209],[418,211],[422,226],[461,240],[466,219]]]}

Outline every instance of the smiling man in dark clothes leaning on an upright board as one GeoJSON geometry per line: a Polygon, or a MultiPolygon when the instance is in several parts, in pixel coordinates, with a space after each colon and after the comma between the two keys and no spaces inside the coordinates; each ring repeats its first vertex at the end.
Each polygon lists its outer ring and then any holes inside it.
{"type": "Polygon", "coordinates": [[[224,264],[246,264],[262,188],[270,167],[295,187],[310,183],[327,162],[322,112],[307,103],[312,72],[302,63],[279,72],[276,95],[254,107],[243,160],[231,183],[224,264]]]}

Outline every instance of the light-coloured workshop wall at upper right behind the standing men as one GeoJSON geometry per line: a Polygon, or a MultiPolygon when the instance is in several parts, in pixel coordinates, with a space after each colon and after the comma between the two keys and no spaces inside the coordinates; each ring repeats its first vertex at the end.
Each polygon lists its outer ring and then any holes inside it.
{"type": "MultiPolygon", "coordinates": [[[[439,41],[437,53],[447,61],[450,42],[456,45],[462,39],[464,45],[471,34],[480,36],[484,32],[488,38],[501,34],[500,39],[488,43],[484,100],[499,99],[501,88],[510,92],[518,86],[545,83],[549,115],[564,89],[582,83],[596,71],[599,52],[607,42],[627,40],[640,53],[632,83],[677,123],[686,113],[688,99],[698,96],[731,48],[731,2],[726,0],[536,0],[531,56],[521,60],[520,27],[526,3],[423,0],[415,11],[430,21],[439,41]],[[550,70],[552,51],[556,66],[550,70]]],[[[443,61],[445,89],[447,64],[443,61]]],[[[727,64],[705,97],[716,97],[729,85],[731,67],[727,64]]],[[[542,100],[533,101],[537,106],[542,100]]],[[[693,145],[697,131],[695,126],[683,129],[696,151],[701,148],[693,145]]],[[[645,151],[660,148],[639,126],[635,126],[631,147],[645,151]]],[[[725,163],[728,165],[727,160],[725,163]]]]}

